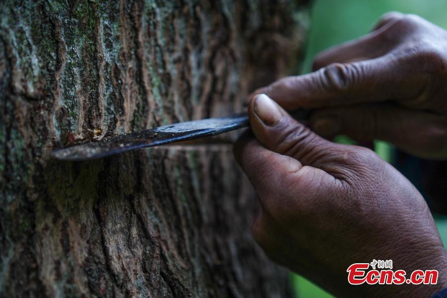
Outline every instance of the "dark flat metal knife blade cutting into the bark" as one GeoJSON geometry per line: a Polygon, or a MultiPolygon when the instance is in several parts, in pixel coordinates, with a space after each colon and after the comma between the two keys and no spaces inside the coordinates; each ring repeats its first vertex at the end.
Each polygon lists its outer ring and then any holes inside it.
{"type": "MultiPolygon", "coordinates": [[[[292,116],[297,120],[305,120],[309,114],[309,110],[298,110],[292,113],[292,116]]],[[[248,125],[246,113],[180,122],[139,132],[105,137],[97,142],[56,149],[51,152],[51,157],[70,161],[97,159],[135,149],[216,136],[248,125]]]]}

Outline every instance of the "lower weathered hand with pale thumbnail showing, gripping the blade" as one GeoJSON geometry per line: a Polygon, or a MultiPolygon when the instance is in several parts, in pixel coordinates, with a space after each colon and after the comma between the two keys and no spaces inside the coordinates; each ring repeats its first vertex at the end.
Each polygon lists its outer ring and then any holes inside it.
{"type": "Polygon", "coordinates": [[[249,105],[256,139],[235,156],[262,211],[252,226],[270,257],[339,297],[428,297],[446,285],[446,254],[419,192],[372,150],[329,142],[266,95],[249,105]],[[350,286],[353,263],[392,259],[393,268],[436,269],[434,286],[350,286]]]}

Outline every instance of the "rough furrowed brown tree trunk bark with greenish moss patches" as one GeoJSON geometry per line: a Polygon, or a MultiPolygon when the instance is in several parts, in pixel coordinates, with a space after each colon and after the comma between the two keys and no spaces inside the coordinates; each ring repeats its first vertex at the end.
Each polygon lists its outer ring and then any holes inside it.
{"type": "Polygon", "coordinates": [[[1,1],[0,296],[289,296],[230,145],[48,154],[240,111],[297,66],[305,2],[1,1]]]}

